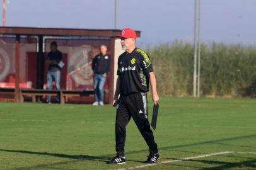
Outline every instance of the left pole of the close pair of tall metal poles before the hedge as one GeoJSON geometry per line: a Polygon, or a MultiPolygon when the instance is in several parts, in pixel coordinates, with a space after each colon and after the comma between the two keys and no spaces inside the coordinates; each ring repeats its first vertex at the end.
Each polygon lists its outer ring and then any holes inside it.
{"type": "Polygon", "coordinates": [[[195,33],[194,33],[194,81],[193,96],[196,97],[197,90],[197,0],[195,0],[195,33]]]}

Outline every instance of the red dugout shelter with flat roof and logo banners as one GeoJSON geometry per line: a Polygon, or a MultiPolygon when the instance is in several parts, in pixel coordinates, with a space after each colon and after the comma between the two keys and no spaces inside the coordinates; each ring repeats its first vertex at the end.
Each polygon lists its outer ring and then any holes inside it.
{"type": "MultiPolygon", "coordinates": [[[[110,73],[105,84],[107,99],[111,102],[115,89],[117,58],[122,54],[121,30],[92,30],[73,28],[0,27],[0,88],[14,89],[12,98],[20,102],[20,89],[45,89],[45,64],[50,42],[57,42],[62,52],[61,89],[93,90],[91,56],[100,52],[101,44],[108,47],[110,73]]],[[[136,31],[137,37],[141,32],[136,31]]],[[[1,93],[0,91],[0,93],[1,93]]],[[[4,98],[0,94],[0,98],[4,98]]]]}

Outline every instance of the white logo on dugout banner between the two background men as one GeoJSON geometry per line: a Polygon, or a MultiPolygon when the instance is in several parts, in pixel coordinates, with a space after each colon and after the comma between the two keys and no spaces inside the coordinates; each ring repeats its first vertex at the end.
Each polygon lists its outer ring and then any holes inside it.
{"type": "Polygon", "coordinates": [[[73,71],[77,70],[71,77],[78,84],[93,84],[93,71],[91,69],[91,64],[89,64],[90,59],[88,58],[88,52],[90,52],[90,50],[91,48],[89,47],[76,50],[69,60],[69,67],[73,67],[73,71]]]}

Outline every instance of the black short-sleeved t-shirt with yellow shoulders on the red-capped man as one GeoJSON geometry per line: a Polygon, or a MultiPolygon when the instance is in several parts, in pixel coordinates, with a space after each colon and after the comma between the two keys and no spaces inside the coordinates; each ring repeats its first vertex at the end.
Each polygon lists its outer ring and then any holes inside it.
{"type": "Polygon", "coordinates": [[[117,75],[120,78],[120,94],[148,92],[149,72],[153,71],[151,61],[143,50],[124,52],[118,59],[117,75]]]}

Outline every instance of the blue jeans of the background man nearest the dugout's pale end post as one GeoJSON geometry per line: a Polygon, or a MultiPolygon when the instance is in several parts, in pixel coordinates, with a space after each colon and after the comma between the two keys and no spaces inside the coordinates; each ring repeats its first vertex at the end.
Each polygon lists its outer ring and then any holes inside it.
{"type": "Polygon", "coordinates": [[[106,77],[103,74],[94,74],[93,84],[94,84],[94,101],[103,101],[104,91],[103,87],[106,82],[106,77]]]}

